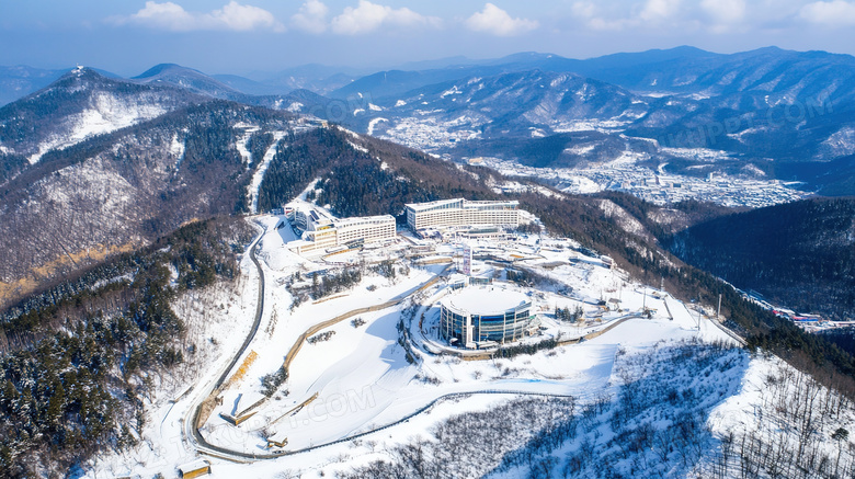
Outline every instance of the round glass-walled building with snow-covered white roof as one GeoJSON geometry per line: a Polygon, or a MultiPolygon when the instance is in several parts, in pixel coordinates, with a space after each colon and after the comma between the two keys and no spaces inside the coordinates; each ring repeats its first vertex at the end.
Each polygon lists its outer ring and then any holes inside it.
{"type": "Polygon", "coordinates": [[[501,286],[464,287],[440,301],[440,337],[468,349],[492,347],[537,331],[532,299],[501,286]]]}

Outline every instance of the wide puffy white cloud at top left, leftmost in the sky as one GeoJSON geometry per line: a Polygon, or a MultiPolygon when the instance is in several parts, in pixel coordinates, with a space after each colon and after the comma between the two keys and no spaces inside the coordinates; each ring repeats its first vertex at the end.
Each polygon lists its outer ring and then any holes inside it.
{"type": "Polygon", "coordinates": [[[151,28],[173,32],[190,32],[195,30],[226,30],[249,32],[253,30],[272,30],[282,32],[285,27],[273,14],[264,9],[242,5],[231,1],[221,9],[210,12],[189,12],[178,3],[147,1],[146,7],[130,16],[112,19],[117,24],[138,24],[151,28]]]}

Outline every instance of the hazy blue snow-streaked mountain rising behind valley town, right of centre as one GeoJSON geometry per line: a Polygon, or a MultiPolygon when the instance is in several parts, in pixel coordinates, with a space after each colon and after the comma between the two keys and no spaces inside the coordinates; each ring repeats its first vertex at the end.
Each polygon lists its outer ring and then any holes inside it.
{"type": "Polygon", "coordinates": [[[579,130],[618,132],[646,115],[632,93],[571,73],[539,70],[472,77],[353,110],[372,135],[430,150],[480,140],[526,140],[579,130]]]}

